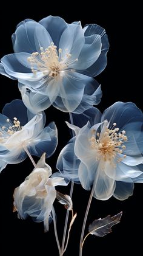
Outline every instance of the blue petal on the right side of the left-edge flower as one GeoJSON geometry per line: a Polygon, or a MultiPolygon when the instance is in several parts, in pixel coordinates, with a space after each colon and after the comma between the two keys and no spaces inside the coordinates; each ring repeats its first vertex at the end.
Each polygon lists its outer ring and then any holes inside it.
{"type": "Polygon", "coordinates": [[[58,145],[58,134],[57,128],[54,122],[50,123],[47,127],[42,130],[36,140],[39,143],[29,148],[29,151],[34,156],[42,156],[45,152],[46,157],[52,156],[58,145]]]}

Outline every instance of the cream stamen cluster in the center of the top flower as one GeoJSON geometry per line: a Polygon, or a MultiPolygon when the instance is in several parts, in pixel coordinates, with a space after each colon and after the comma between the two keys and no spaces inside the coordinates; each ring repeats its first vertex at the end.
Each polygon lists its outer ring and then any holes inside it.
{"type": "Polygon", "coordinates": [[[58,77],[61,71],[71,70],[69,67],[76,60],[71,59],[71,54],[68,53],[68,49],[62,51],[61,48],[57,50],[54,43],[48,46],[47,49],[40,48],[41,53],[33,52],[31,57],[27,58],[27,61],[31,64],[33,74],[42,72],[49,77],[58,77]]]}

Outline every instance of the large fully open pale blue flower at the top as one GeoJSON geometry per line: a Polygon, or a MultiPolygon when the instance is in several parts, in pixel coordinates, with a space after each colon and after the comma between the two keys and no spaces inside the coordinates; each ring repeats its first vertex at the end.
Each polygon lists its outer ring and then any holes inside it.
{"type": "Polygon", "coordinates": [[[19,81],[22,100],[37,113],[50,105],[65,112],[84,112],[97,105],[101,88],[92,77],[107,64],[108,38],[96,24],[82,29],[48,16],[26,19],[12,36],[15,54],[1,59],[0,72],[19,81]]]}

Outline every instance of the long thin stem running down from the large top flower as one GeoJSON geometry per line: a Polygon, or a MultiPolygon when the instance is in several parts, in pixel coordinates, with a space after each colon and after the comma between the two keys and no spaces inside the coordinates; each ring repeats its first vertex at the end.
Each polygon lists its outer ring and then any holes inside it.
{"type": "MultiPolygon", "coordinates": [[[[70,116],[70,122],[73,125],[73,116],[72,114],[69,112],[69,116],[70,116]]],[[[73,137],[75,136],[74,131],[72,130],[72,134],[73,137]]],[[[73,159],[73,168],[75,166],[75,159],[73,159]]],[[[70,198],[72,198],[73,195],[73,187],[74,187],[74,182],[71,181],[71,187],[70,187],[70,198]]],[[[67,224],[68,224],[68,216],[69,216],[69,210],[67,210],[66,216],[65,216],[65,226],[64,226],[64,234],[63,234],[63,238],[62,238],[62,249],[61,249],[61,256],[64,254],[64,245],[65,245],[65,236],[67,233],[67,224]]],[[[67,246],[67,244],[66,244],[67,246]]]]}

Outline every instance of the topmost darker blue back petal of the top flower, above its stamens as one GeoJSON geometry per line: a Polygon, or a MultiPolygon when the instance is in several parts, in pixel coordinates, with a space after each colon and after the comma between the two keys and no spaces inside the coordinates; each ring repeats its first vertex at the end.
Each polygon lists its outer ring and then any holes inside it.
{"type": "Polygon", "coordinates": [[[64,19],[50,15],[44,19],[41,19],[39,23],[44,26],[45,29],[47,29],[53,40],[53,43],[59,47],[59,40],[61,35],[68,26],[64,19]]]}

